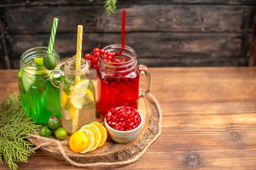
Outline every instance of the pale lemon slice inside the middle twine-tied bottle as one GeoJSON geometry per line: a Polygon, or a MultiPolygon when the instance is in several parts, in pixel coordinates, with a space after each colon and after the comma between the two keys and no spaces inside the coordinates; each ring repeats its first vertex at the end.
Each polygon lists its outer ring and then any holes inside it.
{"type": "MultiPolygon", "coordinates": [[[[77,109],[82,108],[82,105],[85,100],[85,96],[90,96],[90,97],[92,96],[92,93],[90,94],[90,92],[89,92],[90,90],[88,91],[88,89],[87,89],[88,84],[89,84],[89,79],[79,81],[77,84],[75,84],[72,87],[72,89],[70,91],[70,97],[71,97],[70,102],[77,109]]],[[[93,98],[93,100],[94,100],[94,98],[93,98]]]]}

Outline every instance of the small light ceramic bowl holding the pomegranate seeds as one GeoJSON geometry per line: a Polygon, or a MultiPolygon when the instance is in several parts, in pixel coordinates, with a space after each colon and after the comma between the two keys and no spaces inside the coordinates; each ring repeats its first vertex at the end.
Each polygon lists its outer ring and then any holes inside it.
{"type": "Polygon", "coordinates": [[[117,131],[117,130],[113,129],[112,127],[110,127],[108,125],[107,120],[105,118],[104,119],[105,127],[108,131],[108,135],[110,136],[110,138],[119,144],[127,144],[127,143],[132,142],[134,139],[136,139],[137,136],[139,135],[139,133],[141,132],[142,124],[143,124],[143,116],[141,115],[141,113],[139,111],[138,111],[138,113],[141,118],[141,122],[138,127],[136,127],[135,129],[132,129],[130,131],[117,131]]]}

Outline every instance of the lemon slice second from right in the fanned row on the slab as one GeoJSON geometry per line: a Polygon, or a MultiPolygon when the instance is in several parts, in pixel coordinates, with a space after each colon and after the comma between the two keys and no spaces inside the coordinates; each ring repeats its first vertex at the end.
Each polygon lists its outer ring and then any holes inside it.
{"type": "Polygon", "coordinates": [[[95,126],[94,124],[86,124],[83,127],[81,127],[80,130],[82,130],[82,129],[91,131],[93,134],[93,137],[94,137],[94,144],[88,152],[91,152],[91,151],[97,149],[99,146],[99,143],[101,142],[101,132],[99,131],[99,128],[97,126],[95,126]]]}

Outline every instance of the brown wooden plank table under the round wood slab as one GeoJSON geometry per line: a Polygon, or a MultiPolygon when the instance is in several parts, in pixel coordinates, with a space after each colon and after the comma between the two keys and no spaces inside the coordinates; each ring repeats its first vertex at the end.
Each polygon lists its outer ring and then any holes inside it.
{"type": "MultiPolygon", "coordinates": [[[[162,134],[137,162],[117,169],[255,169],[256,68],[150,70],[162,134]]],[[[0,101],[18,90],[16,74],[0,70],[0,101]]],[[[18,166],[80,169],[40,150],[18,166]]]]}

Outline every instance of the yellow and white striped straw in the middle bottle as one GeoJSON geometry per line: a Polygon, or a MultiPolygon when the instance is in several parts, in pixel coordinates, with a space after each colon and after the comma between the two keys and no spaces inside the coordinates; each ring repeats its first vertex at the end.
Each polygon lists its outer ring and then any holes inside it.
{"type": "MultiPolygon", "coordinates": [[[[76,69],[79,69],[78,67],[81,67],[82,37],[83,37],[83,26],[79,25],[79,26],[77,26],[76,69]]],[[[75,83],[78,83],[79,81],[80,81],[80,75],[77,75],[75,77],[75,83]]],[[[75,111],[74,111],[74,118],[72,119],[72,125],[73,125],[72,126],[72,132],[73,133],[75,133],[77,131],[78,114],[79,114],[79,110],[75,109],[75,111]]]]}

